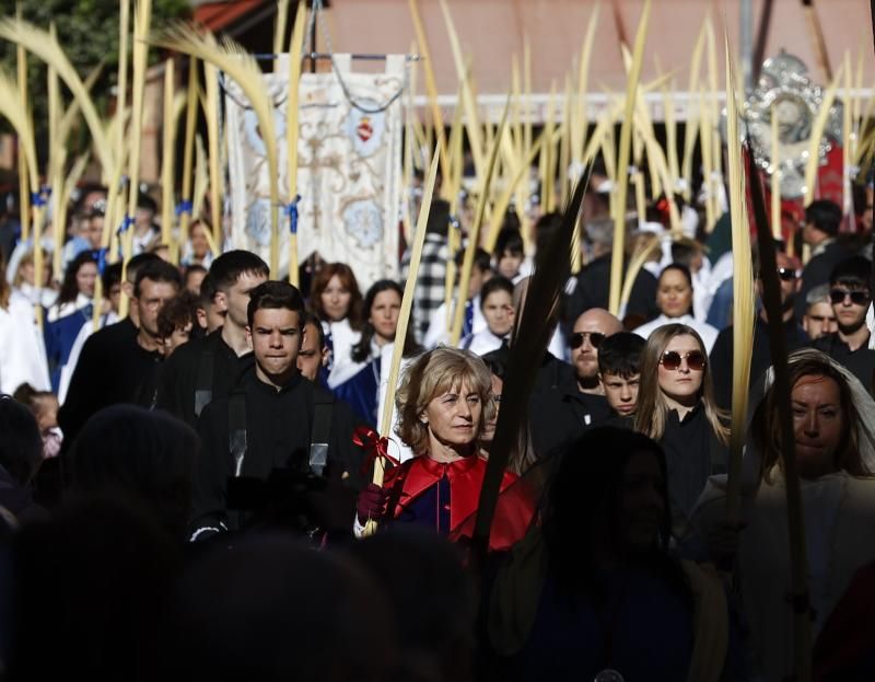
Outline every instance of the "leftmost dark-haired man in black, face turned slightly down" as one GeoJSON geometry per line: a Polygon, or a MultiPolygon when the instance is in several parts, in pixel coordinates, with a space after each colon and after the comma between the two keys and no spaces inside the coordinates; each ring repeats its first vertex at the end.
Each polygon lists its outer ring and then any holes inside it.
{"type": "Polygon", "coordinates": [[[58,412],[65,446],[104,407],[119,403],[154,407],[163,357],[158,315],[179,286],[179,271],[160,258],[151,256],[138,268],[131,315],[93,334],[82,348],[67,400],[58,412]]]}

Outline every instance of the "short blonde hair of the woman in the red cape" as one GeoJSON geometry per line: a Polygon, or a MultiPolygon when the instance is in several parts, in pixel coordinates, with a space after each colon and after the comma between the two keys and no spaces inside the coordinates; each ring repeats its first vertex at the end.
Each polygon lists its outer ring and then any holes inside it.
{"type": "Polygon", "coordinates": [[[410,446],[413,454],[424,454],[428,449],[429,428],[420,417],[429,403],[463,382],[480,396],[483,406],[475,438],[479,440],[487,421],[495,413],[492,377],[483,361],[469,350],[441,346],[423,352],[407,368],[395,394],[398,409],[395,432],[410,446]]]}

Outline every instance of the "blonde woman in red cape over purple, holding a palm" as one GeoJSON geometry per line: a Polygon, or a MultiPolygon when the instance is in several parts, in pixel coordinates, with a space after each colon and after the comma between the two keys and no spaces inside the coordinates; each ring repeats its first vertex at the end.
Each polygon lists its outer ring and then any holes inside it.
{"type": "MultiPolygon", "coordinates": [[[[416,523],[457,540],[477,511],[486,474],[479,443],[495,411],[490,372],[470,351],[439,347],[413,360],[395,400],[396,434],[415,456],[388,470],[383,487],[371,484],[360,495],[357,531],[369,520],[416,523]]],[[[502,489],[516,479],[505,472],[502,489]]],[[[532,511],[523,495],[514,504],[504,499],[491,548],[520,540],[532,511]]]]}

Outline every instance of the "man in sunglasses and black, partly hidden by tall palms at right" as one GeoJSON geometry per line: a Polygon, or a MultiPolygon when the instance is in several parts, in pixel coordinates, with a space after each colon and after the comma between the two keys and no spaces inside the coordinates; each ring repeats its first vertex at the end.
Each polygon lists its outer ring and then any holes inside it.
{"type": "MultiPolygon", "coordinates": [[[[793,314],[796,296],[800,290],[798,263],[785,253],[775,254],[778,262],[778,278],[781,281],[781,323],[786,339],[786,351],[793,352],[808,344],[808,336],[800,327],[793,314]]],[[[757,273],[758,264],[755,264],[757,273]]],[[[757,293],[762,297],[762,281],[757,277],[757,293]]],[[[759,314],[754,322],[754,343],[751,344],[750,383],[756,386],[763,372],[772,366],[772,354],[769,347],[769,316],[766,308],[760,307],[759,314]]],[[[733,378],[733,326],[730,325],[718,334],[714,347],[709,358],[711,379],[714,382],[714,400],[721,409],[732,408],[732,378],[733,378]]]]}

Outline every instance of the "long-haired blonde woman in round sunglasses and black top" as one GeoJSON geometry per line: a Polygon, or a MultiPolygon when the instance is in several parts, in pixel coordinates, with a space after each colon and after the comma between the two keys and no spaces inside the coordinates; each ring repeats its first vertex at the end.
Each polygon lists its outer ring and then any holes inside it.
{"type": "Polygon", "coordinates": [[[685,324],[654,330],[641,358],[635,430],[665,450],[672,534],[689,536],[689,515],[712,474],[726,470],[730,429],[714,402],[708,356],[685,324]]]}

